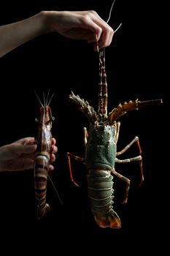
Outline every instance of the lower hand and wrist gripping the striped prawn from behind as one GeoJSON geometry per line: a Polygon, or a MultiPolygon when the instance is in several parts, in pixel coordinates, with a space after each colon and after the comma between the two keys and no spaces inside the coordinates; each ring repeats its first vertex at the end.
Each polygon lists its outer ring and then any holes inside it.
{"type": "MultiPolygon", "coordinates": [[[[50,162],[55,162],[55,153],[58,151],[55,146],[55,138],[52,138],[52,156],[50,162]]],[[[0,147],[0,172],[28,170],[34,168],[36,144],[33,137],[21,138],[13,143],[0,147]]],[[[49,170],[53,170],[50,165],[49,170]]]]}

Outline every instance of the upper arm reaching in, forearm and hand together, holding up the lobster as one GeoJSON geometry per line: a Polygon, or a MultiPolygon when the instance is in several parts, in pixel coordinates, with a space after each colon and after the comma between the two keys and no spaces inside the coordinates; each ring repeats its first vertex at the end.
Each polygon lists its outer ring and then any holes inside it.
{"type": "Polygon", "coordinates": [[[105,48],[112,42],[113,29],[93,10],[42,11],[25,20],[0,26],[0,57],[35,37],[50,32],[70,39],[85,39],[94,48],[105,48]]]}

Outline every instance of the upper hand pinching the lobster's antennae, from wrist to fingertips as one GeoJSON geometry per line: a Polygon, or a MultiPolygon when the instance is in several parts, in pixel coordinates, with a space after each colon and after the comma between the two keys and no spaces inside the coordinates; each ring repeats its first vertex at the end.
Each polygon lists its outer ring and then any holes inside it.
{"type": "Polygon", "coordinates": [[[93,10],[43,13],[47,16],[50,31],[56,31],[64,37],[98,42],[98,48],[107,47],[112,42],[113,29],[93,10]]]}

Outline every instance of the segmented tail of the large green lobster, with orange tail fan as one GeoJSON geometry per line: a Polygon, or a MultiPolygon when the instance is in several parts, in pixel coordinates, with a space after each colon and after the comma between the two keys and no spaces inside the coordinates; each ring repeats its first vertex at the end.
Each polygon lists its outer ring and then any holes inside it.
{"type": "Polygon", "coordinates": [[[98,226],[120,228],[120,218],[112,207],[112,179],[109,170],[90,170],[87,176],[88,196],[98,226]]]}

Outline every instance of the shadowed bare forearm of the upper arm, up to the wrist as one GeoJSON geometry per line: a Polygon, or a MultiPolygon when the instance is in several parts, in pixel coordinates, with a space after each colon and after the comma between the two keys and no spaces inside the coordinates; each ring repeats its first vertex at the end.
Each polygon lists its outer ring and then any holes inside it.
{"type": "Polygon", "coordinates": [[[26,20],[0,26],[0,57],[23,43],[45,34],[47,32],[45,22],[45,12],[39,12],[26,20]]]}

